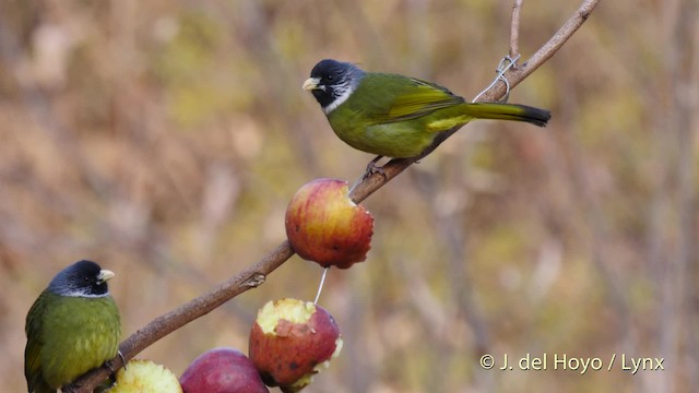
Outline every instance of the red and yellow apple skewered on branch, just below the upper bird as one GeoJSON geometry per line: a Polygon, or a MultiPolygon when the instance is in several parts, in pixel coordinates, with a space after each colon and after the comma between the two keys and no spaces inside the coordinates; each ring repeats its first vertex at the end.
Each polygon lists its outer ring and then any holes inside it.
{"type": "Polygon", "coordinates": [[[286,209],[286,236],[294,251],[323,267],[348,269],[367,259],[374,217],[350,199],[348,184],[316,179],[304,184],[286,209]]]}

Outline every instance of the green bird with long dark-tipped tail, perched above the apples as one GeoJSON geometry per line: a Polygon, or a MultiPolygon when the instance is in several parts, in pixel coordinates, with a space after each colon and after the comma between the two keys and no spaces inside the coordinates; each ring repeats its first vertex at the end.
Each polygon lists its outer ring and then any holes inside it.
{"type": "Polygon", "coordinates": [[[422,157],[441,143],[449,130],[473,119],[526,121],[540,127],[550,119],[548,110],[467,103],[435,83],[365,72],[331,59],[316,64],[303,87],[313,94],[341,140],[386,157],[422,157]]]}

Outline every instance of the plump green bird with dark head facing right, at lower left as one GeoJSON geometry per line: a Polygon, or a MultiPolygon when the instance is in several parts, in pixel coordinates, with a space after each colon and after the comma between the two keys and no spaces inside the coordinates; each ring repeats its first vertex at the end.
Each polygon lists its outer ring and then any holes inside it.
{"type": "Polygon", "coordinates": [[[75,262],[36,299],[25,325],[29,393],[56,392],[117,355],[121,322],[107,288],[114,275],[95,262],[75,262]]]}

